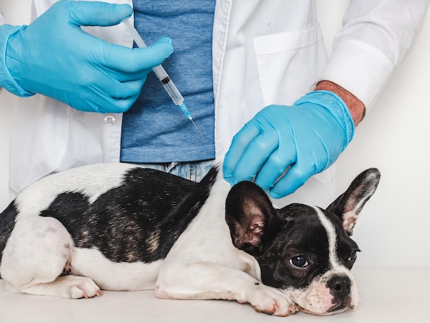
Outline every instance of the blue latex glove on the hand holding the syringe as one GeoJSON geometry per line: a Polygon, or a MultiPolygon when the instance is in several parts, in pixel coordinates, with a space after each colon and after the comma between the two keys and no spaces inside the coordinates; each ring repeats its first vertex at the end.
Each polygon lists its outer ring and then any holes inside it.
{"type": "Polygon", "coordinates": [[[18,96],[41,93],[82,111],[126,111],[152,67],[173,52],[170,38],[131,49],[80,26],[117,25],[132,13],[130,5],[59,1],[30,25],[0,26],[0,85],[18,96]]]}

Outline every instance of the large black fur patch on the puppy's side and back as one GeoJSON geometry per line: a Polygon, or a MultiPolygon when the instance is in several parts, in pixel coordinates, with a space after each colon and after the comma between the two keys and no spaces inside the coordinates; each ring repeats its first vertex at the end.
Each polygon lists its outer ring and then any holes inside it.
{"type": "Polygon", "coordinates": [[[98,248],[115,262],[150,263],[165,258],[199,214],[218,168],[200,183],[149,168],[133,168],[122,184],[89,203],[81,192],[65,192],[41,216],[58,219],[76,247],[98,248]]]}

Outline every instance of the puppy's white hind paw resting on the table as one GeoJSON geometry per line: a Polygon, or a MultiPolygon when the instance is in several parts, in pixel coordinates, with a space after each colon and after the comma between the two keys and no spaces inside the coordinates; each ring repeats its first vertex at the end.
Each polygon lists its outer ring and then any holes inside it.
{"type": "Polygon", "coordinates": [[[65,292],[69,298],[93,298],[95,296],[102,296],[102,291],[93,282],[91,278],[81,276],[61,276],[59,286],[65,287],[65,292]]]}

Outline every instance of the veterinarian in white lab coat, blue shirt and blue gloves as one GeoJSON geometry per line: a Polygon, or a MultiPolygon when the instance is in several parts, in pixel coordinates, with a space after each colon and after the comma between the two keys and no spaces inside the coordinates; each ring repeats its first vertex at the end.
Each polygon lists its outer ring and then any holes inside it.
{"type": "Polygon", "coordinates": [[[22,97],[10,135],[12,195],[52,172],[110,161],[199,180],[225,157],[231,183],[255,177],[272,197],[321,206],[334,193],[328,167],[411,49],[429,5],[350,1],[328,59],[311,0],[111,1],[134,5],[135,27],[153,44],[145,49],[118,46],[133,45],[119,24],[131,7],[54,2],[34,0],[39,18],[28,26],[0,26],[0,85],[22,97]],[[206,141],[149,73],[160,63],[206,141]]]}

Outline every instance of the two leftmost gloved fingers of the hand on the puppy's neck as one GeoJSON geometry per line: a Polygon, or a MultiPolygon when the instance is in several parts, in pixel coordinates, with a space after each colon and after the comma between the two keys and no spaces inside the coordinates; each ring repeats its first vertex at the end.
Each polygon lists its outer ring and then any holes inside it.
{"type": "Polygon", "coordinates": [[[239,181],[251,181],[264,161],[278,148],[278,143],[275,129],[261,131],[258,120],[248,122],[234,137],[226,154],[225,179],[232,185],[239,181]]]}

